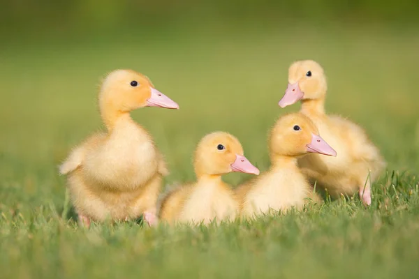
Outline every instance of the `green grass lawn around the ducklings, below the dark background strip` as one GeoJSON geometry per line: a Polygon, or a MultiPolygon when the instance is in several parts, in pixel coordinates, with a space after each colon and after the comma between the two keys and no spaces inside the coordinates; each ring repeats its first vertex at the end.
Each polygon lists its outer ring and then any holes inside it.
{"type": "MultiPolygon", "coordinates": [[[[385,29],[41,40],[0,52],[1,278],[415,278],[419,271],[419,34],[385,29]],[[267,129],[298,106],[277,106],[296,59],[328,74],[329,112],[364,126],[388,172],[368,209],[358,198],[220,227],[82,229],[61,218],[57,165],[101,127],[96,89],[115,68],[146,73],[181,110],[133,116],[166,155],[167,183],[194,178],[206,133],[236,135],[251,162],[269,165],[267,129]]],[[[229,174],[234,186],[249,178],[229,174]]]]}

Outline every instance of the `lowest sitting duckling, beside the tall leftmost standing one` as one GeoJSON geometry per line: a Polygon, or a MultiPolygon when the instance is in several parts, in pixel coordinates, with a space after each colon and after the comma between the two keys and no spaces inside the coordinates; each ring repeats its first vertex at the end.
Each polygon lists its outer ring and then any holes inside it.
{"type": "Polygon", "coordinates": [[[196,148],[193,165],[198,181],[166,195],[159,218],[168,223],[195,224],[233,220],[238,203],[221,176],[229,172],[259,174],[259,169],[244,157],[240,142],[228,133],[206,135],[196,148]]]}

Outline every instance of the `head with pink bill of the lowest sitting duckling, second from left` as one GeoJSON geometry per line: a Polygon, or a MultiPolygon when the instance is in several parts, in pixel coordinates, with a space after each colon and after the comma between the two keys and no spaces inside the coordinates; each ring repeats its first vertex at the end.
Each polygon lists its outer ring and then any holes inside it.
{"type": "Polygon", "coordinates": [[[198,177],[228,172],[259,174],[259,169],[244,157],[242,144],[233,135],[224,132],[211,133],[200,140],[193,165],[198,177]]]}

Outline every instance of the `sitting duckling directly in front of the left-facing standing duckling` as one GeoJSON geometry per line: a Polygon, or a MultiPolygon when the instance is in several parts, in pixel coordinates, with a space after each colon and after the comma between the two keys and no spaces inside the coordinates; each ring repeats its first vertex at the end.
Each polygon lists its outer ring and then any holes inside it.
{"type": "Polygon", "coordinates": [[[269,147],[270,169],[236,189],[242,216],[258,216],[272,209],[301,209],[309,199],[320,202],[300,172],[297,158],[308,153],[337,154],[318,134],[314,123],[301,113],[281,116],[270,132],[269,147]]]}

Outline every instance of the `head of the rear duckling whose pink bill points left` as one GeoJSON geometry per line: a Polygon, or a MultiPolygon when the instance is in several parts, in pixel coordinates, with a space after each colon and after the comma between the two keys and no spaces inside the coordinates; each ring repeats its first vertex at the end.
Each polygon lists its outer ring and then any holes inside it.
{"type": "Polygon", "coordinates": [[[288,87],[278,105],[286,107],[299,100],[325,98],[327,89],[325,73],[316,61],[297,61],[288,69],[288,87]]]}

